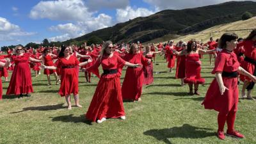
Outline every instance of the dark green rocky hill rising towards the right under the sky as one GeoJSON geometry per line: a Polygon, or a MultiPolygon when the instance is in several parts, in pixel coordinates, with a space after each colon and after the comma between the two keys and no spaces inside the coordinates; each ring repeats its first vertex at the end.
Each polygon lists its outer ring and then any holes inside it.
{"type": "Polygon", "coordinates": [[[99,29],[63,43],[88,40],[92,36],[113,42],[137,40],[148,42],[164,35],[175,38],[177,35],[195,33],[219,24],[241,20],[241,15],[246,11],[255,16],[255,8],[256,2],[253,1],[231,1],[184,10],[163,10],[148,17],[138,17],[109,28],[99,29]]]}

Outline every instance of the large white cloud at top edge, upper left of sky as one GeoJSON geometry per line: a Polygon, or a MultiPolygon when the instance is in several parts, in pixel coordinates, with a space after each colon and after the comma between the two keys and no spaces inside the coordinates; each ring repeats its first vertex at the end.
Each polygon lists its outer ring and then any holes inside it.
{"type": "Polygon", "coordinates": [[[93,13],[82,0],[40,1],[30,11],[31,19],[84,20],[93,13]]]}

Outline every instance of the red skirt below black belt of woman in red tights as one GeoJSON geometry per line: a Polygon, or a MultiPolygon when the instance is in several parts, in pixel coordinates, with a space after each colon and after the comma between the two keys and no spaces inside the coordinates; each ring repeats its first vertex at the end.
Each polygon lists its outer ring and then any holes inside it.
{"type": "Polygon", "coordinates": [[[218,82],[214,79],[207,90],[204,102],[205,109],[214,109],[220,113],[227,114],[233,106],[235,106],[234,111],[237,111],[238,104],[238,87],[237,87],[237,78],[232,77],[222,77],[223,84],[229,90],[225,90],[223,95],[220,94],[220,88],[218,82]]]}

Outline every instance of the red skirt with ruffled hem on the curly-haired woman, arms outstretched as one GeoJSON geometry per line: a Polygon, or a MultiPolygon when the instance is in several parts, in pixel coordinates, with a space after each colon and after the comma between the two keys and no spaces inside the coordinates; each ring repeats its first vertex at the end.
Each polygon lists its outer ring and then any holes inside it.
{"type": "Polygon", "coordinates": [[[201,77],[201,66],[195,62],[186,61],[186,78],[184,83],[203,84],[205,79],[201,77]]]}

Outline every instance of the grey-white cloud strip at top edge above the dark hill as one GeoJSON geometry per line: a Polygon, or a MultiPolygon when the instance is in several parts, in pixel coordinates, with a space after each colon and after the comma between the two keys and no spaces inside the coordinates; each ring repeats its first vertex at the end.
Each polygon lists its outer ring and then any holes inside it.
{"type": "MultiPolygon", "coordinates": [[[[184,8],[196,8],[200,6],[207,6],[211,4],[218,4],[218,3],[225,3],[230,0],[143,0],[145,3],[151,4],[152,6],[155,6],[157,11],[160,10],[180,10],[184,8]]],[[[233,0],[237,1],[237,0],[233,0]]],[[[239,0],[238,0],[239,1],[239,0]]],[[[240,0],[244,1],[244,0],[240,0]]],[[[256,0],[253,0],[256,1],[256,0]]]]}

